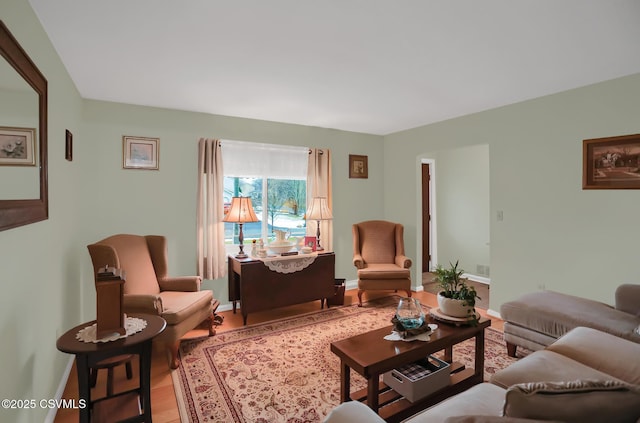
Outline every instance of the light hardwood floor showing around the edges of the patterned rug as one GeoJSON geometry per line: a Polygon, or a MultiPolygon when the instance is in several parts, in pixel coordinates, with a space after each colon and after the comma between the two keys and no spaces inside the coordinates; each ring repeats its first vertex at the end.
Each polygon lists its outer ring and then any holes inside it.
{"type": "MultiPolygon", "coordinates": [[[[345,293],[345,304],[357,303],[357,290],[347,290],[345,293]]],[[[365,293],[365,299],[374,299],[377,297],[391,295],[390,292],[370,292],[365,293]]],[[[433,294],[427,292],[415,292],[413,294],[423,304],[430,307],[437,307],[436,297],[433,294]]],[[[319,309],[319,301],[313,301],[311,303],[298,304],[290,307],[283,307],[276,310],[253,313],[249,315],[248,324],[265,322],[273,319],[281,319],[285,317],[295,316],[297,314],[306,313],[319,309]]],[[[486,312],[479,310],[484,316],[486,312]]],[[[219,313],[224,316],[224,323],[218,326],[217,332],[221,333],[231,329],[242,327],[242,315],[240,313],[233,314],[231,311],[225,311],[219,313]]],[[[487,316],[490,317],[490,316],[487,316]]],[[[491,318],[491,317],[490,317],[491,318]]],[[[502,330],[502,321],[496,318],[491,318],[491,326],[502,330]]],[[[196,329],[189,332],[186,338],[199,338],[207,336],[206,329],[196,329]]],[[[127,380],[125,376],[124,366],[119,366],[114,371],[114,387],[115,392],[120,390],[128,390],[135,388],[137,382],[138,364],[133,360],[133,379],[127,380]]],[[[101,370],[98,373],[98,382],[96,387],[92,389],[91,395],[93,398],[99,398],[106,393],[106,370],[101,370]]],[[[78,399],[78,382],[75,365],[69,375],[63,399],[78,399]]],[[[151,364],[151,414],[155,423],[179,423],[180,416],[178,414],[178,405],[176,402],[175,393],[173,390],[173,382],[171,381],[171,372],[167,365],[164,350],[154,346],[153,358],[151,364]]],[[[60,409],[56,415],[55,423],[71,423],[78,421],[78,410],[72,409],[60,409]]]]}

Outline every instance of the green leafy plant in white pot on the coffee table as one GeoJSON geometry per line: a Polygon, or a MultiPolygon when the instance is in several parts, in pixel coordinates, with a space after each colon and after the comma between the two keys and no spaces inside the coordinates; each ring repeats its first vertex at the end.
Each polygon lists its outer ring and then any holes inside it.
{"type": "Polygon", "coordinates": [[[449,262],[448,268],[437,265],[434,273],[436,282],[442,288],[438,293],[440,312],[451,317],[467,318],[470,323],[477,323],[478,315],[475,305],[476,299],[481,298],[476,289],[467,284],[467,279],[462,277],[464,270],[458,268],[458,261],[455,264],[449,262]]]}

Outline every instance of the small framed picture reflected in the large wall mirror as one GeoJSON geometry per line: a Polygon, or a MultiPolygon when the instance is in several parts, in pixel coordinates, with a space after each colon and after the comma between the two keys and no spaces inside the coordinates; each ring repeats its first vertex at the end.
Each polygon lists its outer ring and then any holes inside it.
{"type": "Polygon", "coordinates": [[[0,165],[36,165],[35,128],[11,128],[0,126],[0,165]]]}

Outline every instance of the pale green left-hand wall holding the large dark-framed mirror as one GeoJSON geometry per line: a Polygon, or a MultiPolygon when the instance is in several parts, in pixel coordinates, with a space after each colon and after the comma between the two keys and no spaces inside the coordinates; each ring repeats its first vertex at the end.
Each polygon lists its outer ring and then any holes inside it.
{"type": "MultiPolygon", "coordinates": [[[[80,136],[82,101],[26,0],[0,2],[0,19],[45,75],[49,91],[49,219],[0,232],[0,397],[52,398],[69,357],[62,331],[80,322],[86,216],[77,162],[64,159],[65,129],[80,136]]],[[[0,421],[42,422],[48,410],[0,410],[0,421]]]]}

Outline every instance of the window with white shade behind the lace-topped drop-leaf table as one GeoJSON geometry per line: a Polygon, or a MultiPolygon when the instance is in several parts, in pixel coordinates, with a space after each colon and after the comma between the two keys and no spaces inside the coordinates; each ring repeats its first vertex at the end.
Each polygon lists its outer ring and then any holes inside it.
{"type": "MultiPolygon", "coordinates": [[[[307,147],[223,141],[225,208],[232,197],[250,197],[259,222],[243,225],[244,243],[275,239],[274,229],[305,236],[307,147]]],[[[226,210],[225,210],[226,211],[226,210]]],[[[225,244],[238,243],[238,225],[225,223],[225,244]]]]}

